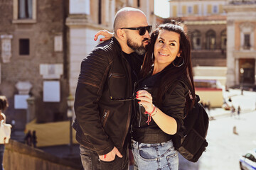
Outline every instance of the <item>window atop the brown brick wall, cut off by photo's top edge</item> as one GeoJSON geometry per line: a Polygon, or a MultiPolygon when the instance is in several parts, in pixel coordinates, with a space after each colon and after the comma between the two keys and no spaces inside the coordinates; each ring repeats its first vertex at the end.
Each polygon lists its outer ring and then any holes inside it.
{"type": "Polygon", "coordinates": [[[18,18],[32,19],[32,0],[18,0],[18,18]]]}

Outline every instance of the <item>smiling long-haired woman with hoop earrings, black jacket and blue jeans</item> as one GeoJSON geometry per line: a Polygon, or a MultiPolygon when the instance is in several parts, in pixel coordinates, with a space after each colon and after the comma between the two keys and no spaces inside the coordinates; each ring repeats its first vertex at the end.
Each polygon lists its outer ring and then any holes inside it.
{"type": "Polygon", "coordinates": [[[195,101],[191,46],[181,23],[161,24],[151,34],[141,78],[132,123],[134,169],[178,170],[174,134],[195,101]]]}

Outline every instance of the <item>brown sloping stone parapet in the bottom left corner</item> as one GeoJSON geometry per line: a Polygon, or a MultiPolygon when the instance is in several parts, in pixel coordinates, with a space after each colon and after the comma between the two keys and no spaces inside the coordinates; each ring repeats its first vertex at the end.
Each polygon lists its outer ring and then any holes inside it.
{"type": "MultiPolygon", "coordinates": [[[[62,150],[59,152],[62,152],[62,150]]],[[[80,157],[79,154],[78,157],[80,157]]],[[[55,157],[42,149],[33,148],[15,140],[9,140],[9,143],[5,145],[4,169],[81,170],[82,164],[75,162],[73,157],[70,159],[55,157]]]]}

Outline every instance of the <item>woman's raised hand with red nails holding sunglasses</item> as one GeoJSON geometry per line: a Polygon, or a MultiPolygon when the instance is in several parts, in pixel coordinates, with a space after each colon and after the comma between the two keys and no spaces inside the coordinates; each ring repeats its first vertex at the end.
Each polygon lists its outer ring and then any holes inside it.
{"type": "Polygon", "coordinates": [[[147,112],[151,113],[151,111],[153,111],[154,109],[153,98],[148,91],[145,91],[145,90],[137,91],[136,98],[137,100],[140,100],[138,102],[139,105],[142,105],[147,112]]]}

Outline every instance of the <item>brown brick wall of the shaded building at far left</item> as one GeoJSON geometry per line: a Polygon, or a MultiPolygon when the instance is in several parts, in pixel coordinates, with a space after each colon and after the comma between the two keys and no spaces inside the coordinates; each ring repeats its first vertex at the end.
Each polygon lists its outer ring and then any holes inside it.
{"type": "MultiPolygon", "coordinates": [[[[65,119],[68,81],[63,76],[60,81],[60,102],[43,102],[43,77],[40,64],[63,64],[63,52],[54,51],[55,35],[63,35],[63,1],[36,1],[36,23],[13,23],[13,1],[0,1],[0,35],[13,35],[11,40],[11,62],[1,62],[0,94],[7,96],[9,108],[6,110],[7,122],[16,120],[16,128],[23,129],[26,121],[26,110],[14,109],[14,95],[18,94],[15,84],[18,81],[29,81],[33,88],[31,93],[36,98],[36,115],[38,122],[50,122],[65,119]],[[20,38],[30,40],[30,54],[19,55],[20,38]]],[[[67,6],[66,4],[64,4],[67,6]]],[[[66,7],[65,7],[66,8],[66,7]]],[[[1,52],[1,45],[0,45],[1,52]]],[[[66,68],[64,66],[64,68],[66,68]]],[[[64,75],[66,78],[66,75],[64,75]]]]}

